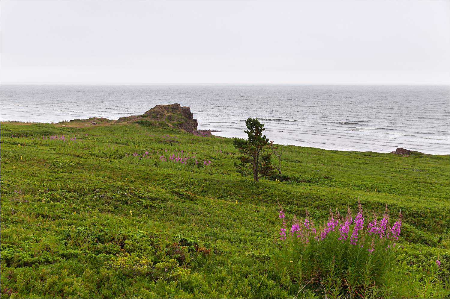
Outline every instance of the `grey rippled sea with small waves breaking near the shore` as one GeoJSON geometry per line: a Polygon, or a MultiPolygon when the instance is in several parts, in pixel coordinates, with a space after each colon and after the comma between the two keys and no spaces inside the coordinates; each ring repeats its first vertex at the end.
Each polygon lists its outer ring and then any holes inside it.
{"type": "Polygon", "coordinates": [[[450,152],[449,86],[0,86],[1,121],[118,119],[173,103],[189,106],[198,128],[218,136],[245,137],[245,119],[257,117],[284,145],[450,152]]]}

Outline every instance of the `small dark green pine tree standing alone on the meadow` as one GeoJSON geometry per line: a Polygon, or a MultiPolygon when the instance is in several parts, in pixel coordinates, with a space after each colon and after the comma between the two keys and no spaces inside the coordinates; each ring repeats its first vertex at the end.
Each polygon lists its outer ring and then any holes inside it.
{"type": "Polygon", "coordinates": [[[235,163],[238,172],[244,174],[248,170],[253,173],[253,179],[258,181],[260,177],[272,174],[274,168],[270,161],[270,153],[264,153],[264,148],[268,145],[269,139],[262,136],[264,124],[258,120],[248,118],[245,121],[248,130],[244,132],[248,135],[248,140],[234,138],[233,145],[242,155],[238,157],[240,163],[235,163]]]}

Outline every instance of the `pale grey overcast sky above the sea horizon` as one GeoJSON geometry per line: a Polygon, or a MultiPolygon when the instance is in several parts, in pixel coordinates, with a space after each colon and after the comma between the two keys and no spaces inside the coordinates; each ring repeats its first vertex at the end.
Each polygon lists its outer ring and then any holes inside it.
{"type": "Polygon", "coordinates": [[[1,1],[2,83],[449,84],[450,1],[1,1]]]}

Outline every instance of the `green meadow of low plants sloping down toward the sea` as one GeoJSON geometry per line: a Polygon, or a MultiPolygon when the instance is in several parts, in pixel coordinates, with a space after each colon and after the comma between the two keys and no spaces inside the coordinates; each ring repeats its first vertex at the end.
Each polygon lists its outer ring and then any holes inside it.
{"type": "Polygon", "coordinates": [[[284,281],[277,200],[320,224],[358,198],[404,216],[374,296],[449,296],[448,155],[279,145],[289,181],[256,183],[231,139],[170,128],[1,123],[0,142],[2,298],[330,297],[284,281]]]}

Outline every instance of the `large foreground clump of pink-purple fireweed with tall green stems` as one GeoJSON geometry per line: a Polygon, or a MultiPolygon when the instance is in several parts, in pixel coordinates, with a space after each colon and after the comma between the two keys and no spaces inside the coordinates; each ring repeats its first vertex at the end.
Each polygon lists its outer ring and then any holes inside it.
{"type": "Polygon", "coordinates": [[[299,286],[319,285],[328,296],[376,297],[382,286],[390,281],[395,241],[401,230],[401,212],[390,225],[386,210],[383,219],[364,217],[361,204],[352,216],[350,208],[342,217],[330,208],[328,222],[316,227],[306,211],[303,220],[294,214],[286,229],[283,208],[279,205],[283,226],[279,232],[281,248],[276,252],[281,283],[286,288],[292,282],[299,286]]]}

